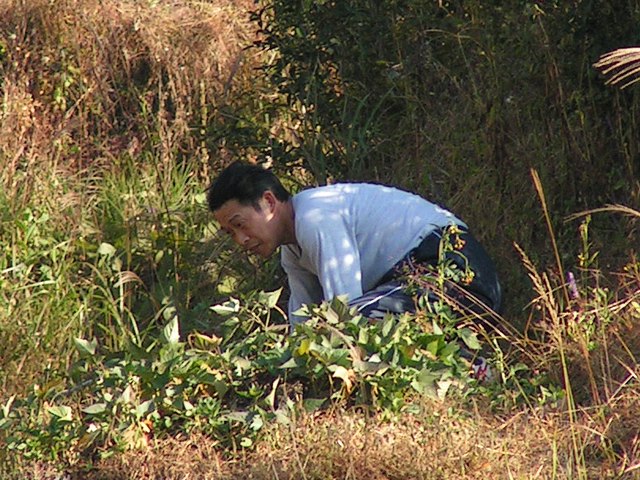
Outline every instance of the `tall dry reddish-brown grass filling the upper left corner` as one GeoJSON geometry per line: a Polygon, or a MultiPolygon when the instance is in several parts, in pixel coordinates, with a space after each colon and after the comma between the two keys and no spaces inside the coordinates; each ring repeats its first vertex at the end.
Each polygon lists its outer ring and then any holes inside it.
{"type": "Polygon", "coordinates": [[[150,132],[165,155],[195,150],[194,124],[214,118],[211,106],[251,70],[251,5],[3,2],[3,179],[45,160],[83,167],[135,155],[150,132]]]}

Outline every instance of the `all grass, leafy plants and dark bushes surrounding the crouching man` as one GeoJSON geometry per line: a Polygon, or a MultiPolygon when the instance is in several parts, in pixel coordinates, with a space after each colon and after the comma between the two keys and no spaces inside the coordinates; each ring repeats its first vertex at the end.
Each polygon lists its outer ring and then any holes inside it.
{"type": "Polygon", "coordinates": [[[609,3],[3,2],[0,476],[634,478],[640,97],[593,64],[640,11],[609,3]],[[277,259],[206,209],[236,158],[446,203],[503,316],[289,331],[277,259]]]}

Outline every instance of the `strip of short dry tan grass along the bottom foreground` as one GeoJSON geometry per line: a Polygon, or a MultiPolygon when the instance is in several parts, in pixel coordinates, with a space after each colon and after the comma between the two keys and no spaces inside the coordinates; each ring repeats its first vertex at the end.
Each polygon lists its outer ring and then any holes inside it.
{"type": "MultiPolygon", "coordinates": [[[[208,479],[571,479],[576,435],[588,478],[635,478],[640,461],[638,387],[602,411],[579,412],[572,433],[565,413],[522,409],[497,415],[483,406],[424,402],[424,413],[396,419],[336,411],[270,427],[255,451],[231,454],[200,436],[167,439],[78,469],[86,480],[208,479]],[[604,423],[603,423],[604,422],[604,423]],[[616,451],[616,455],[611,455],[616,451]]],[[[60,478],[42,464],[30,478],[60,478]]]]}

